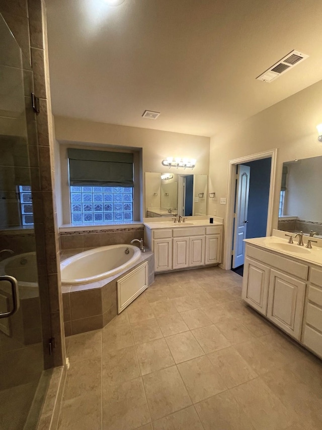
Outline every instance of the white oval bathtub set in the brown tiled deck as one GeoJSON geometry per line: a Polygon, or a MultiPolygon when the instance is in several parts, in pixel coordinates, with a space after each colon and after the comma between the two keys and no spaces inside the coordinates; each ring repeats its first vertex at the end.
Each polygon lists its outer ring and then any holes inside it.
{"type": "Polygon", "coordinates": [[[137,247],[122,244],[76,254],[60,263],[61,284],[88,284],[109,278],[132,266],[140,257],[137,247]]]}

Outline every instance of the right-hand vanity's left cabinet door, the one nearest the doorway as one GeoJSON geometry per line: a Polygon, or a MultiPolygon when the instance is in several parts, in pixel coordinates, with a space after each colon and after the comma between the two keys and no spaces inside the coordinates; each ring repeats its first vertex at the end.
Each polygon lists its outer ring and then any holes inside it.
{"type": "Polygon", "coordinates": [[[245,258],[241,297],[263,315],[266,315],[267,311],[269,281],[269,267],[248,257],[245,258]]]}

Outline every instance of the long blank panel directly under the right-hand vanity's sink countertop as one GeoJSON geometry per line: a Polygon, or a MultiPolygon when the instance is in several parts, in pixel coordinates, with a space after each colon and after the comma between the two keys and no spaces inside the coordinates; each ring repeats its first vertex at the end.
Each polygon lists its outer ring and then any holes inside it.
{"type": "Polygon", "coordinates": [[[276,267],[283,270],[283,272],[290,273],[301,279],[307,279],[308,266],[297,261],[290,260],[289,258],[281,257],[280,255],[271,252],[263,251],[259,248],[252,246],[247,247],[247,256],[255,260],[259,260],[269,266],[276,267]]]}

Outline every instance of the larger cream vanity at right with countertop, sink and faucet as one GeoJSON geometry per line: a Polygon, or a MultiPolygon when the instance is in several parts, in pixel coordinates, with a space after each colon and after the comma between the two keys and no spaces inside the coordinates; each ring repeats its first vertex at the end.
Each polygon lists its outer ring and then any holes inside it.
{"type": "Polygon", "coordinates": [[[285,233],[245,239],[243,299],[322,358],[322,240],[312,249],[287,242],[285,233]]]}

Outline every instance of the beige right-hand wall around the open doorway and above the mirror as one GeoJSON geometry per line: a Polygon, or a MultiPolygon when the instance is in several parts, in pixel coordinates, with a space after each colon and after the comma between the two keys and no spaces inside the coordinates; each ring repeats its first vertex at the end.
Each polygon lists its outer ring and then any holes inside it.
{"type": "Polygon", "coordinates": [[[225,217],[226,206],[219,201],[227,195],[229,160],[277,148],[273,219],[273,227],[277,227],[283,162],[322,155],[315,128],[322,122],[321,95],[322,81],[319,81],[211,138],[209,190],[216,192],[216,199],[209,199],[209,215],[216,210],[217,216],[225,217]]]}

